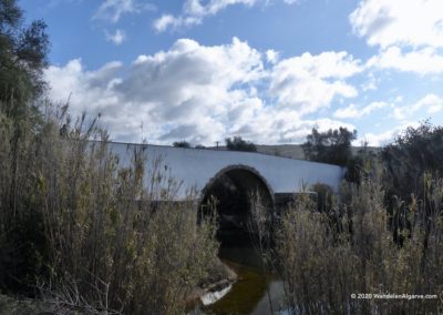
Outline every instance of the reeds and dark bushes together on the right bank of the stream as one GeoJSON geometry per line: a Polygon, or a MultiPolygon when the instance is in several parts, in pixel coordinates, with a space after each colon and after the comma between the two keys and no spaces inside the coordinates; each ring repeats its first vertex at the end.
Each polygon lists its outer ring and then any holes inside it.
{"type": "Polygon", "coordinates": [[[338,195],[326,185],[310,187],[317,200],[298,195],[272,235],[260,233],[270,216],[262,206],[253,207],[257,241],[274,242],[259,253],[266,267],[284,280],[284,309],[443,312],[443,179],[435,163],[440,138],[441,128],[424,122],[408,129],[379,156],[363,150],[353,158],[358,175],[343,181],[338,195]]]}

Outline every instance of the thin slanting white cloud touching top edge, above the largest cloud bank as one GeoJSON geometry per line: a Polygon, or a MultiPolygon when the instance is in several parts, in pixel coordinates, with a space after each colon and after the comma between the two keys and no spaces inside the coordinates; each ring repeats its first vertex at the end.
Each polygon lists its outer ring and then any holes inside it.
{"type": "MultiPolygon", "coordinates": [[[[177,30],[183,27],[192,27],[200,24],[206,17],[215,16],[227,7],[235,4],[253,7],[258,2],[265,2],[266,4],[269,0],[186,0],[181,14],[163,14],[161,18],[154,20],[153,27],[158,32],[166,31],[167,29],[177,30]]],[[[284,2],[293,4],[298,3],[299,0],[284,0],[284,2]]]]}

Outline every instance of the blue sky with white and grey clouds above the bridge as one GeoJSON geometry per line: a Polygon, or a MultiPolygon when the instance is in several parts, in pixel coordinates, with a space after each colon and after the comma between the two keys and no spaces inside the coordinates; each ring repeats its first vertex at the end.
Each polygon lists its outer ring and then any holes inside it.
{"type": "Polygon", "coordinates": [[[19,0],[49,26],[55,102],[115,141],[383,145],[443,124],[442,0],[19,0]],[[71,95],[71,96],[70,96],[71,95]]]}

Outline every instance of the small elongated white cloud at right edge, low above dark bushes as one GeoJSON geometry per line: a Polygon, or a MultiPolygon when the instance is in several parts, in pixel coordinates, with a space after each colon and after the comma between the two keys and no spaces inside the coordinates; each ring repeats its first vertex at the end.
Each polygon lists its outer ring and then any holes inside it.
{"type": "Polygon", "coordinates": [[[427,94],[414,104],[395,108],[392,112],[392,115],[396,120],[404,121],[405,119],[416,114],[419,111],[424,111],[426,114],[435,114],[442,110],[443,99],[435,94],[427,94]]]}

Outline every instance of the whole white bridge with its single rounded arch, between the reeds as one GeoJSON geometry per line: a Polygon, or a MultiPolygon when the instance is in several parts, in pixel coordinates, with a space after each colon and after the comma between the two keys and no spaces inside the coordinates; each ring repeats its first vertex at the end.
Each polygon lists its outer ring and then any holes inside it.
{"type": "Polygon", "coordinates": [[[337,191],[344,173],[337,165],[251,152],[115,142],[110,143],[110,149],[120,156],[122,165],[131,163],[134,149],[144,149],[148,169],[161,159],[163,170],[183,181],[177,200],[185,199],[192,189],[200,200],[219,190],[224,190],[223,194],[234,190],[246,194],[258,189],[275,203],[279,196],[301,192],[303,185],[309,189],[312,184],[323,183],[337,191]],[[219,183],[222,180],[224,183],[219,183]]]}

